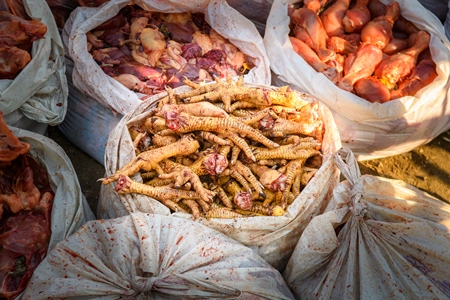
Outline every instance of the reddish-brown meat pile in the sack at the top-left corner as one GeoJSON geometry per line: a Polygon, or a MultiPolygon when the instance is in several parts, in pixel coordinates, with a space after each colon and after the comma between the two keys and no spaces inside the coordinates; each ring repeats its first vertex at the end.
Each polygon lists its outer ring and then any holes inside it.
{"type": "Polygon", "coordinates": [[[0,79],[16,78],[31,61],[33,42],[47,32],[47,26],[30,20],[23,7],[13,8],[0,2],[0,79]]]}

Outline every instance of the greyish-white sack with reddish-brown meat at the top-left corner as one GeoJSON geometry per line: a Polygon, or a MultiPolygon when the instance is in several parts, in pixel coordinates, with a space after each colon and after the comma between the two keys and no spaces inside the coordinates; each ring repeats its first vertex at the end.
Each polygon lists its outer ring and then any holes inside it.
{"type": "Polygon", "coordinates": [[[9,53],[9,57],[17,60],[14,64],[7,60],[2,70],[0,111],[8,125],[44,134],[48,125],[63,121],[67,110],[68,87],[61,37],[45,1],[23,1],[23,6],[9,10],[1,12],[3,25],[8,26],[5,32],[9,32],[3,36],[6,41],[2,41],[2,53],[9,53]],[[10,25],[5,25],[8,20],[10,25]],[[44,25],[39,32],[36,32],[40,28],[37,23],[44,25]],[[24,34],[30,35],[28,42],[24,41],[24,34]],[[5,75],[18,65],[23,67],[19,73],[5,75]]]}

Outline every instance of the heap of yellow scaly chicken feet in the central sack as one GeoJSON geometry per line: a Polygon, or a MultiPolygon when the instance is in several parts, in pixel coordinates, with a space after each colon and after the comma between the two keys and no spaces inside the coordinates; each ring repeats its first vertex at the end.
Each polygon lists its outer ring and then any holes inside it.
{"type": "Polygon", "coordinates": [[[136,157],[103,184],[193,218],[281,216],[322,165],[319,103],[244,76],[166,97],[129,123],[136,157]],[[147,115],[147,113],[146,113],[147,115]],[[131,177],[140,173],[143,183],[131,177]]]}

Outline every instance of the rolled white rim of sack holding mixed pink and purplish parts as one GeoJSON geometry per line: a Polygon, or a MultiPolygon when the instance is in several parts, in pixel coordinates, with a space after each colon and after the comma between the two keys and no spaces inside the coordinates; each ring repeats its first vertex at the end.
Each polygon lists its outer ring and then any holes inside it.
{"type": "MultiPolygon", "coordinates": [[[[88,52],[86,35],[105,21],[117,16],[126,5],[163,13],[204,13],[208,24],[223,38],[228,39],[255,65],[246,75],[247,82],[270,84],[270,68],[262,37],[255,25],[223,1],[126,1],[115,0],[96,7],[78,7],[67,20],[62,34],[67,53],[74,61],[73,82],[83,93],[119,114],[135,109],[147,99],[145,93],[126,88],[122,83],[106,75],[88,52]]],[[[157,97],[153,96],[153,98],[157,97]]]]}

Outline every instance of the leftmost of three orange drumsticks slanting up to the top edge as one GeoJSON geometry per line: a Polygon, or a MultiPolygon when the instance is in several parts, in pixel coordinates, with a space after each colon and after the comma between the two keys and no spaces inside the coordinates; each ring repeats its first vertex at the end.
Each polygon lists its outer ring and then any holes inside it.
{"type": "Polygon", "coordinates": [[[345,33],[342,19],[348,11],[349,5],[350,0],[336,0],[333,5],[322,12],[320,20],[329,37],[345,33]]]}

